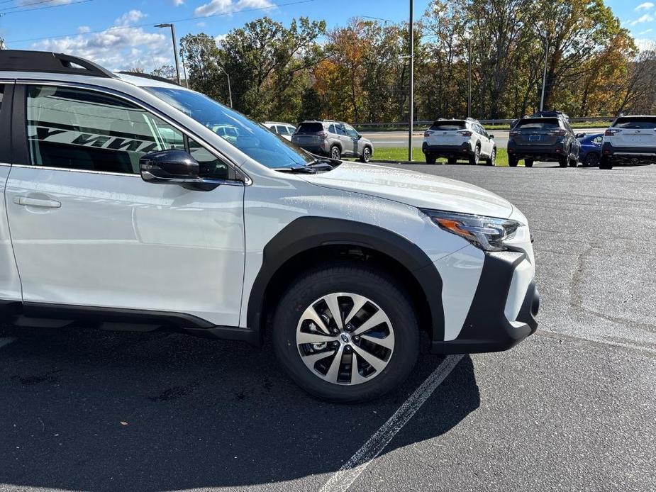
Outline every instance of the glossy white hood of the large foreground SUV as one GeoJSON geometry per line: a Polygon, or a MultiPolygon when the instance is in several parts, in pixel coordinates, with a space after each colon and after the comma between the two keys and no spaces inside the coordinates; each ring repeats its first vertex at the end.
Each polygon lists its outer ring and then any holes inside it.
{"type": "Polygon", "coordinates": [[[455,179],[374,164],[343,162],[330,172],[304,175],[317,186],[380,196],[406,205],[508,218],[512,204],[490,191],[455,179]]]}

